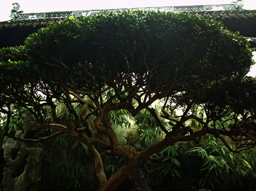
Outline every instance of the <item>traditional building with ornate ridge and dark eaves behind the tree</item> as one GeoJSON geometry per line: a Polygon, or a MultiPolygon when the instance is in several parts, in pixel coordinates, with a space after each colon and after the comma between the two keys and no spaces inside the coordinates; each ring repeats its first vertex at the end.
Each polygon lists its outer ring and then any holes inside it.
{"type": "MultiPolygon", "coordinates": [[[[42,27],[47,27],[51,23],[60,22],[65,18],[69,17],[77,18],[80,16],[87,16],[89,14],[97,14],[102,11],[80,10],[23,13],[23,11],[19,10],[19,3],[14,3],[13,5],[15,7],[11,10],[11,18],[7,21],[0,21],[0,48],[23,45],[25,38],[28,37],[29,34],[36,32],[42,27]]],[[[238,0],[236,2],[233,1],[230,4],[220,5],[145,8],[145,10],[157,9],[160,11],[188,12],[190,14],[198,14],[202,18],[216,19],[222,21],[229,30],[239,31],[242,36],[248,37],[249,40],[252,42],[252,47],[256,47],[256,8],[244,8],[243,0],[238,0]]],[[[114,9],[114,11],[117,10],[122,9],[114,9]]]]}

